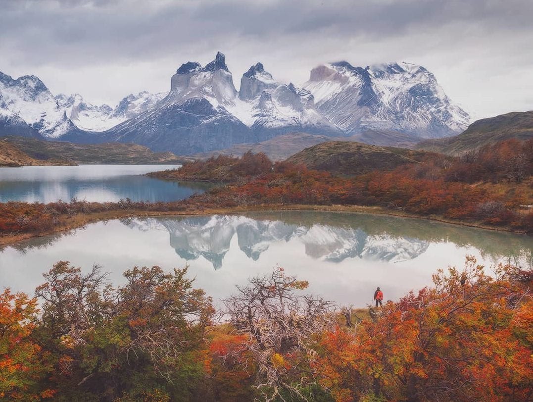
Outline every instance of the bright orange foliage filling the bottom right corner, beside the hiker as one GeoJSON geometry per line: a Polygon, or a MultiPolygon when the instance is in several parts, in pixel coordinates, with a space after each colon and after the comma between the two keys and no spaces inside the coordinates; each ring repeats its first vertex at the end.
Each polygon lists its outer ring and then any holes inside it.
{"type": "Polygon", "coordinates": [[[509,270],[493,280],[470,258],[465,285],[462,272],[439,271],[435,288],[388,303],[356,334],[324,334],[321,384],[337,401],[528,400],[533,304],[509,270]]]}

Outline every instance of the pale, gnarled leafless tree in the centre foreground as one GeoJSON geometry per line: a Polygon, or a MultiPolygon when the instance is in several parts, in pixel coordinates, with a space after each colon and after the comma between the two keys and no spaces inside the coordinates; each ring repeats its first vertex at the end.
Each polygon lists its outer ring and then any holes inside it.
{"type": "Polygon", "coordinates": [[[245,348],[258,367],[256,387],[264,400],[306,400],[301,389],[315,381],[312,336],[336,323],[332,303],[300,294],[307,286],[278,267],[224,301],[231,324],[248,335],[245,348]]]}

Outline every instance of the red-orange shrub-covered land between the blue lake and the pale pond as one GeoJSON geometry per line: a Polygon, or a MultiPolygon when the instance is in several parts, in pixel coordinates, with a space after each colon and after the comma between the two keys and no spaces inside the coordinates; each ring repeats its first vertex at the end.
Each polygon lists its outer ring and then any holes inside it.
{"type": "Polygon", "coordinates": [[[179,170],[151,174],[166,179],[228,183],[205,194],[169,203],[129,199],[118,203],[0,203],[0,235],[48,231],[80,213],[194,212],[265,204],[375,205],[533,232],[533,211],[527,206],[533,204],[531,155],[533,140],[507,140],[462,158],[429,154],[421,163],[352,178],[287,162],[272,164],[264,154],[218,156],[185,164],[179,170]]]}

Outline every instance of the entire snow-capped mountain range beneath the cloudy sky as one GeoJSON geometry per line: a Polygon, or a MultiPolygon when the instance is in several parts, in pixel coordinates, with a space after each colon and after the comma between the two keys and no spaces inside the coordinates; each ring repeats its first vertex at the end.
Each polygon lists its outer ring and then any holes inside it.
{"type": "MultiPolygon", "coordinates": [[[[276,81],[256,63],[240,89],[218,52],[202,67],[189,61],[168,93],[140,92],[116,107],[79,94],[54,96],[35,76],[0,73],[0,135],[74,142],[134,142],[154,151],[196,154],[269,140],[290,132],[352,136],[390,132],[438,138],[462,132],[464,110],[450,101],[424,67],[401,62],[314,68],[302,88],[276,81]]],[[[372,142],[371,140],[369,140],[372,142]]]]}

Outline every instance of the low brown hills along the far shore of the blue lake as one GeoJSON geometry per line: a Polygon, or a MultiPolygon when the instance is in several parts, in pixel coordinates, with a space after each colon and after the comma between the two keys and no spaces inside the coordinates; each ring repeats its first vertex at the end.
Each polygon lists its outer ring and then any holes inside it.
{"type": "Polygon", "coordinates": [[[8,137],[4,141],[13,144],[31,158],[41,162],[62,159],[77,164],[172,164],[186,160],[176,157],[172,152],[152,152],[141,145],[118,142],[75,144],[38,141],[18,136],[8,137]]]}

